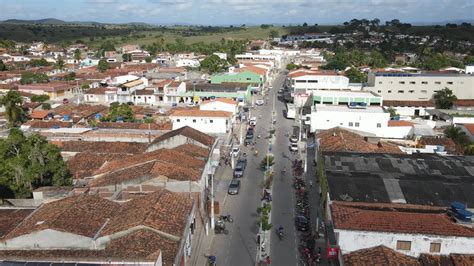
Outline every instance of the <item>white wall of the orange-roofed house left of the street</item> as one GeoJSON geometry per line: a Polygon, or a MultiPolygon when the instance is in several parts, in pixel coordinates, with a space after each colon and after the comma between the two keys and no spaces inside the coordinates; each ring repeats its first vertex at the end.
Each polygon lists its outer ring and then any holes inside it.
{"type": "Polygon", "coordinates": [[[170,119],[173,123],[173,130],[189,126],[201,132],[212,134],[227,133],[232,124],[230,117],[170,116],[170,119]]]}

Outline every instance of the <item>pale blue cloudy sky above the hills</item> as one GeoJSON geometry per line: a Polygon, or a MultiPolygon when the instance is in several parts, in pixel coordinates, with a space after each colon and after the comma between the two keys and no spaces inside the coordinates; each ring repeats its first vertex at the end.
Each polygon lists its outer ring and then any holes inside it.
{"type": "Polygon", "coordinates": [[[0,0],[0,20],[42,18],[197,25],[444,22],[474,20],[474,0],[0,0]]]}

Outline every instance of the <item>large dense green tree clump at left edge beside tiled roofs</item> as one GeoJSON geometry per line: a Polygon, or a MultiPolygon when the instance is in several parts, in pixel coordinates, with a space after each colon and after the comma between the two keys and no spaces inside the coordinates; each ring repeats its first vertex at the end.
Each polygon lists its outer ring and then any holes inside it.
{"type": "Polygon", "coordinates": [[[45,137],[10,129],[0,139],[0,198],[31,197],[41,186],[70,186],[72,178],[57,146],[45,137]]]}

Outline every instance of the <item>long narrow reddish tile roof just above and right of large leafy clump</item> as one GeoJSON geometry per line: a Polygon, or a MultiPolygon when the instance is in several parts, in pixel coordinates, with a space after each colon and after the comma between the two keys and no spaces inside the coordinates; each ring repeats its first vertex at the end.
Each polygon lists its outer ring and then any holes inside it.
{"type": "Polygon", "coordinates": [[[145,152],[148,144],[138,142],[106,141],[51,141],[66,152],[91,152],[103,154],[136,154],[145,152]]]}

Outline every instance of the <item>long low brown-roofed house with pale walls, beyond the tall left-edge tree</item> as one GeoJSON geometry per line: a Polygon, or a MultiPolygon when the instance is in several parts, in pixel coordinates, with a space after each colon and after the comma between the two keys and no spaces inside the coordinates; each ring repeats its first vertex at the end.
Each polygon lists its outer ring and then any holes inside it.
{"type": "Polygon", "coordinates": [[[48,82],[18,85],[18,91],[36,95],[46,94],[51,100],[62,98],[71,94],[76,84],[66,82],[48,82]]]}

